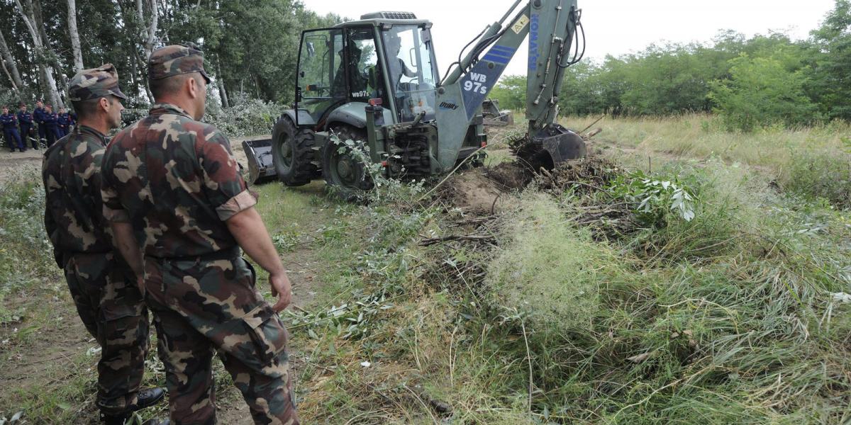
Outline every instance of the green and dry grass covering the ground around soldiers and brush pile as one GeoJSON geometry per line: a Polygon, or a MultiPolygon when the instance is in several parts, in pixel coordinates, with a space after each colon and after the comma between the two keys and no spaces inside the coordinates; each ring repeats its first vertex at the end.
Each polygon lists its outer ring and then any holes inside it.
{"type": "MultiPolygon", "coordinates": [[[[727,133],[711,116],[598,126],[605,155],[694,190],[694,220],[665,213],[601,238],[573,218],[617,200],[581,191],[528,190],[477,227],[405,193],[356,205],[321,183],[256,187],[279,250],[319,282],[306,313],[286,316],[302,422],[439,423],[432,399],[466,424],[848,422],[851,304],[831,296],[851,292],[837,160],[848,127],[727,133]],[[419,244],[469,233],[493,244],[419,244]]],[[[491,164],[510,159],[500,131],[491,164]]],[[[35,237],[34,186],[14,187],[0,193],[0,256],[15,264],[0,269],[0,305],[24,321],[3,325],[3,359],[39,355],[39,332],[62,327],[57,305],[77,319],[35,237]]],[[[265,276],[259,288],[268,295],[265,276]]],[[[92,365],[77,353],[14,383],[0,416],[91,417],[92,365]]],[[[161,373],[153,362],[151,382],[161,373]]]]}

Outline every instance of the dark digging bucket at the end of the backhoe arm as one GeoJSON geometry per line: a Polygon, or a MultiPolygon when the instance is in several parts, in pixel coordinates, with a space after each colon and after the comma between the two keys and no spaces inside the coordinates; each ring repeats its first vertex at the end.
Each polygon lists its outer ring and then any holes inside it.
{"type": "Polygon", "coordinates": [[[587,156],[585,140],[558,124],[550,124],[531,139],[525,138],[515,144],[517,157],[534,171],[541,168],[552,170],[565,161],[587,156]]]}

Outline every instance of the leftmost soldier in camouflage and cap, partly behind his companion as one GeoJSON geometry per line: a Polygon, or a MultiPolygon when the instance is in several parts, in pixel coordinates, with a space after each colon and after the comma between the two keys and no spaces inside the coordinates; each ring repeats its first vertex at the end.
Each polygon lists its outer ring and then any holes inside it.
{"type": "MultiPolygon", "coordinates": [[[[139,282],[114,251],[102,216],[100,163],[104,133],[121,122],[118,76],[112,65],[71,79],[70,98],[83,120],[44,154],[44,227],[71,296],[100,347],[98,406],[107,424],[164,399],[163,388],[140,390],[148,346],[148,314],[139,282]],[[84,114],[84,115],[83,115],[84,114]]],[[[151,422],[154,423],[154,422],[151,422]]]]}

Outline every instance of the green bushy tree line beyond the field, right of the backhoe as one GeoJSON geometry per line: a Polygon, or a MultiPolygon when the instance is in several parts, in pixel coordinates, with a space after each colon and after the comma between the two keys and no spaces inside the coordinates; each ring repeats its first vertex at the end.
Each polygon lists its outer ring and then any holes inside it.
{"type": "MultiPolygon", "coordinates": [[[[500,80],[500,107],[526,107],[526,76],[500,80]]],[[[837,0],[806,40],[722,31],[708,43],[654,44],[568,68],[566,116],[715,112],[729,129],[851,121],[851,2],[837,0]]]]}

